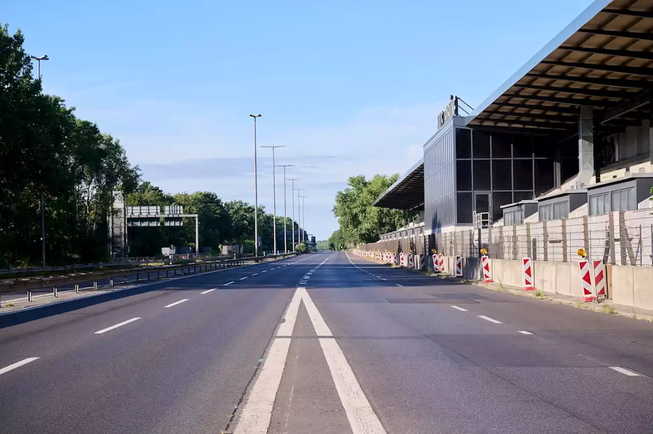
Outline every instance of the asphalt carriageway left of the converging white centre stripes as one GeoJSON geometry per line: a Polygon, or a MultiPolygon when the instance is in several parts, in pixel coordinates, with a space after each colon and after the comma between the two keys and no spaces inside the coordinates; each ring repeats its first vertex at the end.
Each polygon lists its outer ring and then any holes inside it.
{"type": "Polygon", "coordinates": [[[39,357],[0,374],[0,432],[219,433],[310,261],[187,277],[0,329],[0,368],[39,357]]]}

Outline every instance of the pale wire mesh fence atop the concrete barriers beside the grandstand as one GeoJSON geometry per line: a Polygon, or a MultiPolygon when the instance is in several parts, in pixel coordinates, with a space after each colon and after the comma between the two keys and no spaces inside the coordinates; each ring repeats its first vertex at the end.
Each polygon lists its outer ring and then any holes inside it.
{"type": "Polygon", "coordinates": [[[480,256],[481,249],[497,259],[556,262],[577,261],[579,249],[592,260],[605,264],[653,265],[653,212],[651,209],[614,211],[575,219],[537,221],[513,226],[457,230],[424,236],[409,233],[404,238],[360,245],[364,250],[446,256],[480,256]]]}

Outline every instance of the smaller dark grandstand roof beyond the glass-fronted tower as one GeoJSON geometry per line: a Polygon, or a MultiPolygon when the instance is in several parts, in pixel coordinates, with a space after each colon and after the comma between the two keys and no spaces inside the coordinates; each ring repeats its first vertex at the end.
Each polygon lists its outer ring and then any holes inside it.
{"type": "Polygon", "coordinates": [[[392,209],[424,209],[424,159],[390,185],[372,205],[392,209]]]}

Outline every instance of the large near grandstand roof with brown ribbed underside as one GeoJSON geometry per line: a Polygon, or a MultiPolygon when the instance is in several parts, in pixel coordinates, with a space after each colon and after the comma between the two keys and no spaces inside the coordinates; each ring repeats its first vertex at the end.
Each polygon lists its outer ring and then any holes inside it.
{"type": "Polygon", "coordinates": [[[603,125],[641,125],[653,85],[652,8],[652,0],[594,1],[466,123],[573,131],[579,106],[589,106],[603,125]]]}

